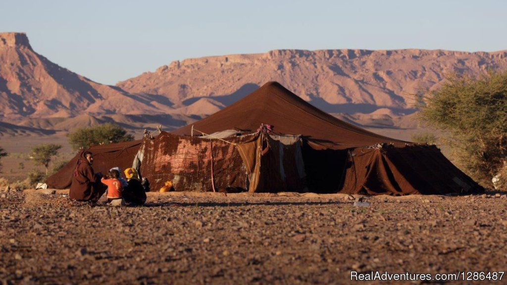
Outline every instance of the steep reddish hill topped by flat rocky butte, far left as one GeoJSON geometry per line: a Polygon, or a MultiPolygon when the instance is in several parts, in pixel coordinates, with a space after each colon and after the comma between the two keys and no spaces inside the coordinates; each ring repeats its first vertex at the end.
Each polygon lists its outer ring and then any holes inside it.
{"type": "MultiPolygon", "coordinates": [[[[177,126],[190,120],[160,96],[130,94],[49,61],[32,50],[24,33],[0,33],[0,62],[0,121],[25,126],[27,132],[68,130],[115,119],[142,127],[125,116],[163,114],[170,119],[164,122],[177,121],[177,126]],[[171,113],[175,115],[166,115],[171,113]]],[[[0,132],[6,133],[6,126],[0,132]]]]}

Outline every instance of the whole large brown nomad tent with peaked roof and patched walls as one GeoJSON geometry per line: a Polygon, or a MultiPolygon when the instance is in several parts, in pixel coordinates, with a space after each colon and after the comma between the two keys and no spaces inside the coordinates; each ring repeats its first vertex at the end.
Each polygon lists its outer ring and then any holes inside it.
{"type": "MultiPolygon", "coordinates": [[[[152,191],[166,182],[175,191],[407,195],[483,190],[436,147],[345,123],[276,82],[171,133],[91,151],[96,171],[133,162],[152,191]]],[[[67,188],[76,161],[51,176],[48,185],[67,188]],[[57,185],[59,180],[65,183],[57,185]]]]}

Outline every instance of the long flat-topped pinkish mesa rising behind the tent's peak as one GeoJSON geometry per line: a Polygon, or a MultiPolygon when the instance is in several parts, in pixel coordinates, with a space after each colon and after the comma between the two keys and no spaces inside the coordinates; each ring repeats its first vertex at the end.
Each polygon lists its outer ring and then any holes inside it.
{"type": "Polygon", "coordinates": [[[416,111],[415,93],[436,88],[451,73],[479,76],[488,69],[506,70],[507,51],[274,50],[175,61],[117,86],[189,108],[203,100],[227,105],[278,81],[325,112],[395,126],[416,111]]]}

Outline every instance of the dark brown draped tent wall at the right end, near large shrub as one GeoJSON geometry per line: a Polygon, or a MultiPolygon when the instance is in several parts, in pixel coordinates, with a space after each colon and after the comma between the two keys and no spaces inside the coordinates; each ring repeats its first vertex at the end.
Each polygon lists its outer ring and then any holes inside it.
{"type": "Polygon", "coordinates": [[[356,148],[348,160],[341,193],[400,196],[483,190],[436,147],[356,148]]]}

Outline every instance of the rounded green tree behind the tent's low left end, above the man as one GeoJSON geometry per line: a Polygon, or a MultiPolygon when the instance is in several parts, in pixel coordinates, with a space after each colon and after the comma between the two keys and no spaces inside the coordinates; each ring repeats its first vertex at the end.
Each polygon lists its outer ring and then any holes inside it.
{"type": "Polygon", "coordinates": [[[79,128],[67,134],[68,142],[74,150],[110,142],[131,141],[134,136],[115,124],[105,123],[94,127],[79,128]]]}

